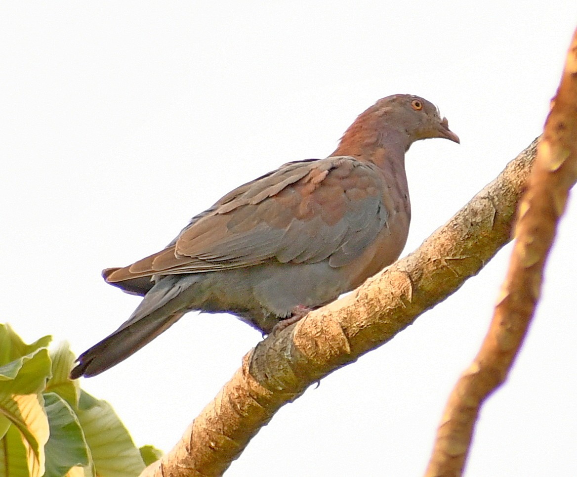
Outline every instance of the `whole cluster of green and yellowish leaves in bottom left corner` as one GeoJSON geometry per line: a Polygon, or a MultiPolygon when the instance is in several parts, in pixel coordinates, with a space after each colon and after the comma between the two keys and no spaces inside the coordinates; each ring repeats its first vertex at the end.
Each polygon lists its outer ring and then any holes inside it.
{"type": "Polygon", "coordinates": [[[69,345],[50,341],[0,324],[0,477],[139,475],[160,451],[138,449],[111,405],[69,378],[69,345]]]}

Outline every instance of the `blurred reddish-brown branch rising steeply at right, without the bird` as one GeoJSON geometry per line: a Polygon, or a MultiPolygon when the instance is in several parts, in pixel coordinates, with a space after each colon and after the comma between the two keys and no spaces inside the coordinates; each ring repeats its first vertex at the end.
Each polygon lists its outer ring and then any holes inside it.
{"type": "Polygon", "coordinates": [[[493,320],[478,355],[449,397],[427,477],[462,475],[481,404],[507,378],[533,318],[545,260],[576,180],[577,30],[519,204],[515,247],[493,320]]]}

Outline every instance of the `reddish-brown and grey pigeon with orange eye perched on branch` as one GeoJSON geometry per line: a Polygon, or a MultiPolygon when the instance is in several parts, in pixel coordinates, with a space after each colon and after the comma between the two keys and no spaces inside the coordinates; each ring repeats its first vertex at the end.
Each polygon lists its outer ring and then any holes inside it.
{"type": "Polygon", "coordinates": [[[406,243],[404,154],[431,137],[459,143],[429,101],[387,96],[359,115],[327,158],[288,162],[241,185],[162,251],[104,270],[108,283],[144,299],[78,357],[70,376],[118,364],[190,310],[232,313],[270,333],[361,285],[406,243]]]}

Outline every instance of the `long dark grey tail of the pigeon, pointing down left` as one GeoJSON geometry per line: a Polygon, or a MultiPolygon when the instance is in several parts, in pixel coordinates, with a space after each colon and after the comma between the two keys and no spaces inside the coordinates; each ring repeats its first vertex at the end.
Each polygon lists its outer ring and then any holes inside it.
{"type": "Polygon", "coordinates": [[[196,281],[194,275],[162,278],[145,295],[128,321],[78,356],[78,364],[70,372],[70,378],[100,374],[166,331],[189,310],[190,290],[196,281]]]}

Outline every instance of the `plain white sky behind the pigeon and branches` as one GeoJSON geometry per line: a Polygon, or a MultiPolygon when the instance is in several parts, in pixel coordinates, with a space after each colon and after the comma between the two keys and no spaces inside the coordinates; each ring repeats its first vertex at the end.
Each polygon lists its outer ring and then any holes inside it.
{"type": "MultiPolygon", "coordinates": [[[[577,4],[392,3],[2,2],[0,322],[84,351],[138,303],[101,269],[158,251],[233,187],[324,157],[357,114],[399,92],[436,103],[462,142],[409,151],[404,254],[418,247],[541,131],[577,4]]],[[[576,235],[573,204],[468,477],[577,475],[576,235]]],[[[421,475],[508,250],[281,409],[227,475],[421,475]]],[[[260,339],[231,316],[190,313],[82,384],[138,445],[166,451],[260,339]]]]}

